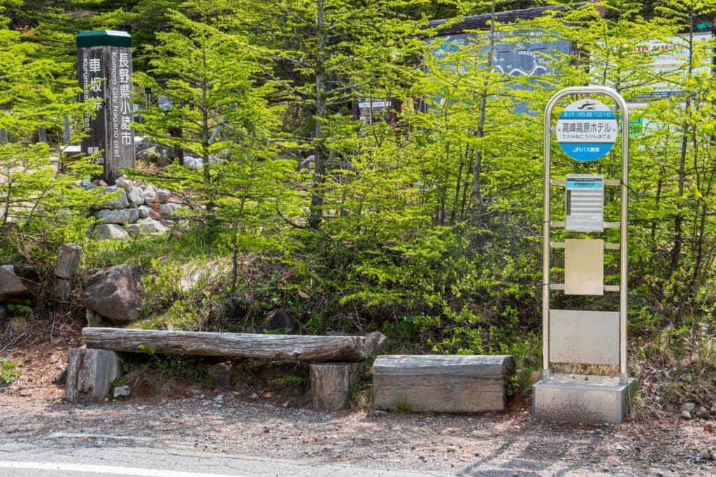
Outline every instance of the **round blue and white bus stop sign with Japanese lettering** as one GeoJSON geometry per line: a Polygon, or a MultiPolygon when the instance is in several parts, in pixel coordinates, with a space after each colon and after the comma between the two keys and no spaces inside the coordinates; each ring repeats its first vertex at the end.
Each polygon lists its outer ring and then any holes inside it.
{"type": "Polygon", "coordinates": [[[578,99],[557,119],[557,142],[569,157],[594,161],[604,156],[616,141],[619,127],[611,108],[596,99],[578,99]]]}

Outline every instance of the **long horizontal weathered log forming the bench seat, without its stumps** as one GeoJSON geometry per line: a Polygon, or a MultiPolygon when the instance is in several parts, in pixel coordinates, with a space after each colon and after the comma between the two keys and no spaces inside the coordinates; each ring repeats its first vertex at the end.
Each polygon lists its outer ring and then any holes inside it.
{"type": "Polygon", "coordinates": [[[128,353],[304,361],[363,361],[385,342],[377,331],[367,336],[302,336],[89,327],[82,330],[82,338],[88,348],[128,353]]]}

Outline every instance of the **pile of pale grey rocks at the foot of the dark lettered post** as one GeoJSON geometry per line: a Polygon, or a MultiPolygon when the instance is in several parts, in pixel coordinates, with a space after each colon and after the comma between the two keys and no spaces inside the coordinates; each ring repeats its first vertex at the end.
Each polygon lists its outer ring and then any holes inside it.
{"type": "MultiPolygon", "coordinates": [[[[102,187],[93,183],[89,187],[102,187]]],[[[103,192],[119,192],[119,196],[102,202],[93,209],[100,220],[92,234],[100,240],[125,240],[140,234],[163,234],[173,225],[181,207],[170,202],[172,194],[166,189],[135,185],[124,177],[116,185],[104,186],[103,192]]]]}

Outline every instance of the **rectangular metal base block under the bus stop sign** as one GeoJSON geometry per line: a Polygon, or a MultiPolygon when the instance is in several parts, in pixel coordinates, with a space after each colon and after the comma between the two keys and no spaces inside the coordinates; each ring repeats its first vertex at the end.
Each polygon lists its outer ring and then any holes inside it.
{"type": "Polygon", "coordinates": [[[538,421],[611,423],[624,421],[637,381],[619,378],[554,374],[532,386],[532,416],[538,421]]]}

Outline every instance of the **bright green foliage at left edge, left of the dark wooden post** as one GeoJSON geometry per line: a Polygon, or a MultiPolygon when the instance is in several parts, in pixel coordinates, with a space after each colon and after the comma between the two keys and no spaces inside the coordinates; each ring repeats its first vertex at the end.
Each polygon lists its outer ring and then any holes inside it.
{"type": "Polygon", "coordinates": [[[82,244],[94,222],[87,206],[99,201],[97,192],[76,184],[97,166],[79,161],[61,172],[50,160],[62,146],[52,134],[51,144],[39,142],[39,129],[61,130],[64,116],[87,105],[77,103],[78,89],[65,76],[71,65],[50,57],[32,30],[8,24],[0,16],[0,129],[7,134],[0,141],[0,256],[32,263],[42,285],[37,292],[46,297],[59,245],[82,244]]]}

